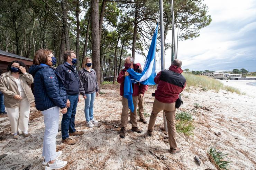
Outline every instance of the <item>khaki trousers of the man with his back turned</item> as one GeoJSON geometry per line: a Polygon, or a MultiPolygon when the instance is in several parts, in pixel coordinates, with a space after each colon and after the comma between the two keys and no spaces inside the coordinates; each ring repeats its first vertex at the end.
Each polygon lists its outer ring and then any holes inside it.
{"type": "Polygon", "coordinates": [[[153,130],[156,122],[157,114],[164,110],[167,121],[169,144],[172,149],[177,149],[176,144],[176,127],[175,127],[175,102],[162,103],[155,99],[153,109],[148,123],[148,130],[153,130]]]}

